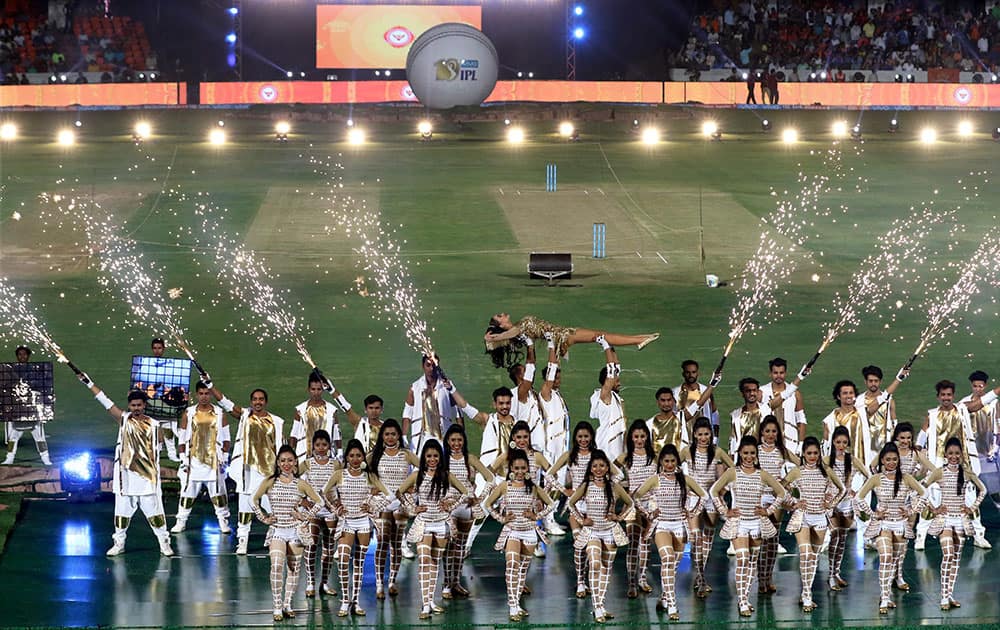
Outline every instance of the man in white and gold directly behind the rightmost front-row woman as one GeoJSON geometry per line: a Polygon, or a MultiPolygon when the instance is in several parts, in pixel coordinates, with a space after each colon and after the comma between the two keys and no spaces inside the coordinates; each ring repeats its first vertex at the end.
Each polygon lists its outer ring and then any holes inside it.
{"type": "MultiPolygon", "coordinates": [[[[1000,395],[1000,387],[987,391],[981,397],[970,396],[967,402],[955,404],[955,383],[948,380],[938,381],[934,385],[937,390],[938,406],[927,410],[924,426],[917,436],[917,445],[926,449],[927,459],[935,466],[943,466],[944,445],[952,437],[962,440],[962,453],[972,472],[979,474],[979,451],[976,448],[976,433],[972,428],[972,416],[987,405],[993,405],[1000,395]]],[[[985,387],[984,387],[985,389],[985,387]]],[[[931,522],[921,518],[917,523],[917,539],[913,548],[923,551],[927,540],[927,530],[931,522]]],[[[986,540],[986,528],[983,527],[982,516],[977,512],[972,519],[976,535],[973,544],[981,549],[990,549],[993,545],[986,540]]]]}

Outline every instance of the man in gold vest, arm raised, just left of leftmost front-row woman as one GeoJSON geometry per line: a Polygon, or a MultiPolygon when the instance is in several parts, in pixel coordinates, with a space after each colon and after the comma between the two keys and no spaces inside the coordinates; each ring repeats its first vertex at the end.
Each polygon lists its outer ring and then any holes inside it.
{"type": "MultiPolygon", "coordinates": [[[[211,382],[207,374],[202,380],[211,382]]],[[[233,403],[212,387],[212,394],[228,414],[239,418],[236,439],[233,440],[233,458],[229,464],[229,478],[236,482],[239,493],[239,515],[236,524],[236,554],[245,556],[250,541],[250,524],[253,522],[253,495],[266,479],[274,474],[274,464],[278,449],[284,439],[282,427],[285,421],[267,410],[267,392],[255,389],[250,392],[250,408],[245,409],[233,403]]],[[[267,501],[264,497],[262,501],[267,501]]],[[[264,506],[270,511],[270,506],[264,506]]]]}

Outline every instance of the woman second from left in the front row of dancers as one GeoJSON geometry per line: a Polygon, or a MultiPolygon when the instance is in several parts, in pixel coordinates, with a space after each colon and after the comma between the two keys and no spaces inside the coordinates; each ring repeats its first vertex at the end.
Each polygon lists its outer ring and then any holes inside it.
{"type": "Polygon", "coordinates": [[[378,476],[369,474],[366,468],[365,448],[360,440],[352,439],[344,451],[343,470],[333,473],[323,489],[340,518],[334,534],[340,574],[338,617],[352,613],[365,616],[365,609],[358,606],[358,594],[364,580],[365,552],[371,542],[371,515],[378,514],[392,500],[378,476]]]}

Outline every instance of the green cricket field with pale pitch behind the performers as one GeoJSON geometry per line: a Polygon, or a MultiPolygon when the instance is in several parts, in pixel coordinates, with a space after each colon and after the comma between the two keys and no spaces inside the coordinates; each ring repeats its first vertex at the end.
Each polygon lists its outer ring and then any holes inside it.
{"type": "MultiPolygon", "coordinates": [[[[765,380],[767,360],[774,356],[795,367],[809,358],[828,319],[823,309],[879,246],[889,221],[931,199],[941,208],[960,204],[966,252],[996,227],[995,184],[969,176],[996,163],[1000,143],[989,133],[1000,122],[995,113],[972,114],[978,133],[962,140],[954,133],[965,117],[960,112],[900,112],[900,131],[890,135],[888,112],[619,107],[614,121],[597,121],[607,118],[606,112],[574,108],[578,120],[591,120],[577,122],[580,141],[567,143],[555,133],[560,120],[555,109],[488,111],[499,120],[460,126],[438,120],[434,140],[421,143],[415,133],[419,112],[358,109],[352,115],[369,137],[360,147],[343,143],[339,118],[297,120],[291,141],[276,144],[271,141],[275,114],[267,110],[84,112],[78,143],[68,149],[53,139],[56,128],[71,124],[75,114],[4,113],[0,119],[16,121],[20,137],[0,145],[0,275],[34,296],[54,339],[123,402],[129,358],[146,353],[154,331],[122,329],[122,307],[101,293],[82,232],[69,224],[62,229],[43,225],[46,206],[38,200],[43,192],[93,197],[119,217],[122,233],[133,234],[149,260],[165,268],[165,287],[183,289],[174,305],[183,309],[189,338],[216,384],[238,402],[246,401],[251,388],[263,387],[271,394],[272,411],[288,418],[292,406],[305,398],[308,368],[288,352],[290,344],[259,345],[232,332],[240,315],[230,304],[212,303],[218,284],[175,236],[180,228],[198,225],[193,205],[161,194],[164,188],[189,195],[208,192],[228,208],[225,229],[261,252],[275,271],[274,284],[302,302],[313,331],[307,342],[320,367],[355,403],[378,393],[386,400],[387,415],[398,416],[407,387],[420,374],[420,358],[400,330],[370,316],[371,298],[356,289],[364,275],[352,251],[356,243],[342,233],[327,235],[330,217],[317,199],[323,180],[307,160],[310,154],[342,153],[346,189],[367,199],[405,239],[402,251],[413,262],[415,285],[424,290],[423,315],[433,328],[434,346],[473,404],[489,407],[492,389],[507,384],[506,375],[483,355],[482,334],[492,313],[509,311],[515,318],[535,314],[619,332],[661,331],[661,340],[643,352],[626,348],[620,353],[628,414],[648,417],[655,411],[653,392],[680,382],[681,360],[699,360],[707,380],[721,354],[736,296],[733,284],[707,288],[704,274],[723,280],[737,276],[756,247],[760,217],[774,209],[783,191],[798,189],[800,170],[820,171],[820,154],[831,146],[832,122],[860,120],[863,154],[856,155],[847,143],[842,164],[853,173],[841,192],[823,198],[823,205],[833,209],[831,216],[810,218],[807,231],[816,236],[780,297],[785,316],[744,338],[727,364],[717,399],[728,415],[740,404],[740,377],[765,380]],[[522,121],[528,135],[523,145],[502,140],[505,116],[522,121]],[[212,147],[206,142],[208,129],[220,117],[230,142],[212,147]],[[772,123],[770,134],[760,131],[763,117],[772,123]],[[706,118],[720,122],[721,142],[701,137],[706,118]],[[145,150],[155,161],[130,142],[139,119],[153,125],[155,137],[145,150]],[[656,124],[663,142],[653,147],[638,142],[633,119],[656,124]],[[939,130],[934,145],[918,140],[925,124],[939,130]],[[782,144],[786,125],[795,125],[803,141],[782,144]],[[558,165],[555,193],[545,192],[547,163],[558,165]],[[867,178],[860,193],[853,191],[857,176],[867,178]],[[981,196],[966,201],[970,191],[963,187],[973,180],[981,196]],[[849,206],[846,215],[841,204],[849,206]],[[15,212],[20,220],[13,218],[15,212]],[[597,221],[607,224],[604,260],[590,257],[591,226],[597,221]],[[531,251],[571,252],[573,279],[555,287],[530,280],[525,266],[531,251]],[[811,280],[814,273],[820,274],[819,282],[811,280]]],[[[963,252],[950,256],[959,259],[963,252]]],[[[932,385],[941,378],[956,380],[964,392],[971,370],[998,370],[990,345],[995,293],[994,287],[984,287],[974,303],[982,307],[967,319],[974,336],[960,328],[917,363],[899,392],[902,417],[922,417],[934,404],[932,385]]],[[[830,348],[803,386],[810,432],[819,432],[819,421],[832,407],[836,380],[860,381],[860,368],[869,363],[893,374],[906,360],[925,321],[916,299],[912,306],[900,311],[888,330],[874,314],[867,316],[856,334],[830,348]],[[899,337],[903,341],[894,343],[899,337]]],[[[15,345],[11,341],[3,350],[6,359],[13,360],[15,345]]],[[[33,358],[40,359],[40,353],[33,358]]],[[[598,348],[576,347],[564,365],[563,390],[574,420],[588,415],[588,397],[603,363],[598,348]]],[[[48,428],[56,457],[110,447],[113,422],[68,369],[59,370],[56,387],[57,419],[48,428]]],[[[20,457],[30,451],[22,442],[20,457]]]]}

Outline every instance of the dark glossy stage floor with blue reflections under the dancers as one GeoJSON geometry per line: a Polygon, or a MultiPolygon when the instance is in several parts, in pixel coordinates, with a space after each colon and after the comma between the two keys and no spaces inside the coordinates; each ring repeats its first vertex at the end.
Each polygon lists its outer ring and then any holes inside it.
{"type": "MultiPolygon", "coordinates": [[[[176,499],[167,499],[170,505],[176,499]]],[[[987,501],[987,503],[989,503],[987,501]]],[[[174,503],[174,505],[176,505],[174,503]]],[[[985,504],[984,504],[985,507],[985,504]]],[[[168,511],[172,511],[168,508],[168,511]]],[[[0,557],[0,584],[4,585],[3,626],[260,626],[271,621],[268,580],[269,561],[262,548],[263,527],[254,524],[251,555],[233,554],[235,539],[219,534],[207,501],[199,501],[187,532],[174,537],[173,558],[163,558],[140,514],[130,529],[127,552],[114,559],[104,556],[111,544],[113,504],[70,504],[63,501],[29,501],[0,557]],[[204,525],[201,525],[204,523],[204,525]]],[[[992,506],[987,514],[996,523],[992,506]]],[[[169,518],[173,524],[173,518],[169,518]]],[[[416,566],[404,560],[400,572],[401,594],[379,602],[375,599],[370,568],[374,547],[368,554],[368,574],[361,597],[366,617],[336,616],[338,598],[307,600],[300,582],[295,599],[298,616],[280,626],[372,626],[372,625],[470,625],[507,624],[507,606],[501,555],[492,550],[497,526],[484,529],[467,561],[464,582],[472,591],[469,600],[444,600],[447,609],[430,622],[420,622],[416,566]]],[[[998,530],[988,532],[1000,547],[998,530]]],[[[783,534],[782,544],[794,549],[794,541],[783,534]]],[[[962,572],[955,597],[960,609],[938,608],[940,551],[928,539],[927,551],[906,558],[909,593],[897,592],[898,608],[887,616],[877,610],[877,555],[865,552],[859,536],[852,533],[844,559],[847,589],[834,593],[826,586],[826,560],[821,559],[814,595],[818,608],[803,614],[799,595],[798,558],[779,557],[776,573],[778,593],[753,596],[756,612],[741,619],[737,615],[733,567],[724,541],[716,540],[708,574],[714,592],[705,601],[691,592],[687,555],[678,569],[678,603],[681,621],[671,625],[740,624],[759,627],[813,626],[914,626],[952,624],[997,624],[1000,620],[1000,551],[983,551],[966,545],[962,572]]],[[[616,617],[607,625],[667,625],[665,615],[655,609],[659,589],[628,600],[625,597],[625,551],[618,554],[607,608],[616,617]]],[[[659,584],[659,562],[654,559],[650,583],[659,584]]],[[[304,580],[303,580],[304,581],[304,580]]],[[[533,595],[524,600],[531,612],[519,626],[566,627],[591,623],[589,599],[574,597],[575,579],[569,537],[553,539],[548,557],[535,559],[528,582],[533,595]]],[[[756,589],[756,586],[755,586],[756,589]]]]}

